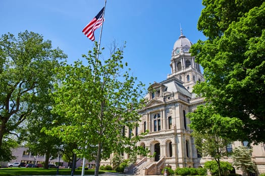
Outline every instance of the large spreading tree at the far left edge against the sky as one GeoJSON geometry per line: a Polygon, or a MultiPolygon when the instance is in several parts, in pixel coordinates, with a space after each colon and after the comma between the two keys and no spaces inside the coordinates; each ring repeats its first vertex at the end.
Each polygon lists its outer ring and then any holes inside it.
{"type": "Polygon", "coordinates": [[[8,33],[0,38],[0,160],[12,158],[10,148],[15,146],[18,128],[35,111],[38,95],[52,87],[53,69],[66,57],[37,33],[25,31],[17,38],[8,33]]]}

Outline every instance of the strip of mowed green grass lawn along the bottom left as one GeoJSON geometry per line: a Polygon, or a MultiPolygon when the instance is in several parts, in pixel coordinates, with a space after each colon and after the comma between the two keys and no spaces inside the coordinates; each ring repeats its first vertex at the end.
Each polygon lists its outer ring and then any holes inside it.
{"type": "MultiPolygon", "coordinates": [[[[76,169],[74,174],[81,175],[82,169],[76,169]]],[[[11,167],[11,168],[0,168],[1,176],[9,176],[9,175],[56,175],[57,168],[25,168],[25,167],[11,167]]],[[[99,171],[99,174],[104,173],[104,171],[99,171]]],[[[93,175],[94,169],[85,170],[85,174],[93,175]]],[[[71,175],[71,169],[68,168],[60,168],[59,175],[71,175]]]]}

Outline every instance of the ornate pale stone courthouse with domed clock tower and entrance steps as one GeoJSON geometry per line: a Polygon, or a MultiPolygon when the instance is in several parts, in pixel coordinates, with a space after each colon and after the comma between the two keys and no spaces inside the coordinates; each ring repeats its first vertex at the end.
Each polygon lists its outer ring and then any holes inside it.
{"type": "MultiPolygon", "coordinates": [[[[161,82],[154,82],[146,95],[146,106],[139,110],[141,121],[139,127],[127,130],[128,136],[140,134],[148,130],[138,146],[150,150],[153,158],[138,155],[136,164],[129,167],[134,173],[140,175],[160,174],[165,166],[172,169],[177,167],[203,167],[209,157],[202,157],[196,150],[194,139],[191,137],[190,120],[186,114],[194,112],[198,105],[204,103],[200,97],[192,94],[192,89],[197,81],[204,81],[200,65],[189,53],[192,43],[182,31],[175,42],[172,57],[169,60],[171,74],[161,82]]],[[[167,63],[165,63],[167,64],[167,63]]],[[[227,146],[231,151],[239,145],[246,145],[247,141],[235,141],[227,146]]],[[[129,155],[125,154],[125,158],[129,155]]],[[[253,146],[252,159],[259,173],[265,172],[264,144],[253,146]]],[[[232,162],[227,157],[222,160],[232,162]]],[[[101,164],[107,164],[102,161],[101,164]]],[[[241,170],[233,170],[242,174],[241,170]]]]}

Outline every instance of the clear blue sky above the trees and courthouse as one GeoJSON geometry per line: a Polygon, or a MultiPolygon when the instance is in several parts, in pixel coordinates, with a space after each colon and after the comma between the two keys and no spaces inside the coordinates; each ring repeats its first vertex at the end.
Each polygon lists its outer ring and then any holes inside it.
{"type": "MultiPolygon", "coordinates": [[[[43,35],[68,55],[68,62],[81,59],[93,48],[82,29],[104,6],[104,0],[1,0],[0,35],[25,30],[43,35]]],[[[183,34],[193,43],[205,40],[197,30],[203,6],[199,0],[112,0],[107,1],[101,47],[109,57],[115,41],[127,42],[124,61],[134,76],[148,85],[171,73],[170,59],[175,41],[183,34]],[[108,51],[108,52],[107,52],[108,51]]],[[[100,29],[95,31],[95,40],[100,29]]]]}

